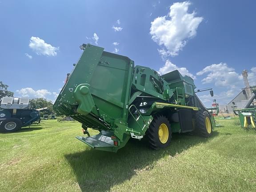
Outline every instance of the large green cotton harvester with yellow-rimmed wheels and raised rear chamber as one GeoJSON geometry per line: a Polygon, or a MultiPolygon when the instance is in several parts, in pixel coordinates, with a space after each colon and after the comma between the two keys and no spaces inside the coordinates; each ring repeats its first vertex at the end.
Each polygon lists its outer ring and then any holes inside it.
{"type": "Polygon", "coordinates": [[[209,137],[215,127],[195,95],[191,77],[177,70],[160,76],[135,66],[126,56],[83,44],[83,54],[57,97],[58,115],[82,124],[76,138],[97,150],[116,152],[130,138],[147,140],[153,149],[167,147],[174,132],[209,137]],[[90,136],[88,128],[99,131],[90,136]]]}

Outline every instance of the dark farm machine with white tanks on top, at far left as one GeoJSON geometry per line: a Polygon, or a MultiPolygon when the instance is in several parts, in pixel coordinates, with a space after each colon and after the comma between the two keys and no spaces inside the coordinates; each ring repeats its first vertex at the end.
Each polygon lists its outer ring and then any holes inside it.
{"type": "Polygon", "coordinates": [[[19,97],[3,97],[1,108],[0,132],[14,132],[33,122],[40,123],[39,111],[47,109],[40,108],[35,110],[30,108],[29,99],[19,97]]]}

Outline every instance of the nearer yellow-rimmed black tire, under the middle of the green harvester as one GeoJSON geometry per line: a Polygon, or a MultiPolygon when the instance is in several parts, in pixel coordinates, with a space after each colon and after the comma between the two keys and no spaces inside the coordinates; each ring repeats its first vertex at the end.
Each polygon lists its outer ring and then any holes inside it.
{"type": "Polygon", "coordinates": [[[166,148],[172,140],[170,122],[165,116],[155,116],[150,124],[145,138],[148,145],[155,150],[166,148]]]}

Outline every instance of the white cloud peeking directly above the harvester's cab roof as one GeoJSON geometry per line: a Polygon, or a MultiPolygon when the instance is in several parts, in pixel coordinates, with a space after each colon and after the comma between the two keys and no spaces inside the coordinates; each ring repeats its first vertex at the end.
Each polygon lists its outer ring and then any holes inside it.
{"type": "Polygon", "coordinates": [[[187,68],[179,68],[176,64],[173,64],[170,60],[167,60],[164,66],[161,67],[158,72],[160,73],[160,75],[164,75],[174,70],[178,70],[183,76],[187,75],[192,77],[193,79],[196,79],[196,76],[190,73],[187,68]]]}

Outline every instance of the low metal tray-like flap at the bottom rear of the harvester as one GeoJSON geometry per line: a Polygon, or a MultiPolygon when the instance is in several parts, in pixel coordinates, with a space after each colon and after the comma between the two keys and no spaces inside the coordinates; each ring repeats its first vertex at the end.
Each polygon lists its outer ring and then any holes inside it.
{"type": "Polygon", "coordinates": [[[119,146],[115,146],[113,140],[111,139],[112,135],[113,132],[101,131],[98,135],[95,136],[76,136],[76,139],[84,142],[85,144],[96,150],[109,152],[116,152],[118,149],[124,147],[124,145],[129,140],[128,138],[124,140],[119,146]]]}

